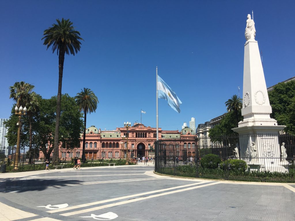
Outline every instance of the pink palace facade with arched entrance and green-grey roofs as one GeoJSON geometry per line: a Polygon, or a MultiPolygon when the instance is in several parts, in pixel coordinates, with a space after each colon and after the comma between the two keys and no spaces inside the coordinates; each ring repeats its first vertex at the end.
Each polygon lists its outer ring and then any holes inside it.
{"type": "MultiPolygon", "coordinates": [[[[190,128],[182,130],[181,132],[178,130],[162,131],[162,129],[159,128],[158,133],[159,139],[195,137],[194,132],[190,128]]],[[[133,126],[129,127],[128,133],[125,127],[116,128],[115,131],[101,131],[95,126],[91,126],[86,129],[85,157],[86,159],[126,158],[127,149],[128,158],[150,156],[151,154],[149,155],[149,152],[152,152],[150,150],[154,147],[156,139],[157,129],[145,126],[141,123],[135,123],[133,126]]],[[[81,133],[80,140],[80,147],[75,149],[59,148],[59,158],[64,160],[73,157],[82,157],[83,133],[81,133]]],[[[191,145],[194,146],[194,144],[191,145]]],[[[53,153],[51,153],[50,157],[52,157],[52,154],[53,153]]],[[[39,159],[44,159],[42,151],[40,151],[39,159]]]]}

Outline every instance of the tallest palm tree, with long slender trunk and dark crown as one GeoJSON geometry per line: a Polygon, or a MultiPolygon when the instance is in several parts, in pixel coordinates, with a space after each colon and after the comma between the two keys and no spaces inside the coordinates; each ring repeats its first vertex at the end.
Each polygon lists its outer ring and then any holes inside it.
{"type": "Polygon", "coordinates": [[[61,85],[63,80],[63,62],[65,60],[65,53],[67,55],[75,55],[75,52],[80,51],[81,42],[80,32],[75,30],[72,22],[69,19],[56,19],[58,24],[53,24],[44,31],[43,44],[47,45],[47,49],[52,45],[52,53],[57,51],[58,54],[58,93],[56,102],[56,121],[55,121],[55,135],[54,135],[54,152],[53,163],[58,162],[58,145],[59,145],[59,121],[60,121],[60,102],[61,102],[61,85]]]}

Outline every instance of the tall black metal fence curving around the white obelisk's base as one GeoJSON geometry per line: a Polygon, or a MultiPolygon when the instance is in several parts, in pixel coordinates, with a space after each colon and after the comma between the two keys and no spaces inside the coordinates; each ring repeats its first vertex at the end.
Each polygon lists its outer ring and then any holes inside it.
{"type": "Polygon", "coordinates": [[[155,171],[182,177],[295,182],[295,136],[247,135],[155,142],[155,171]]]}

